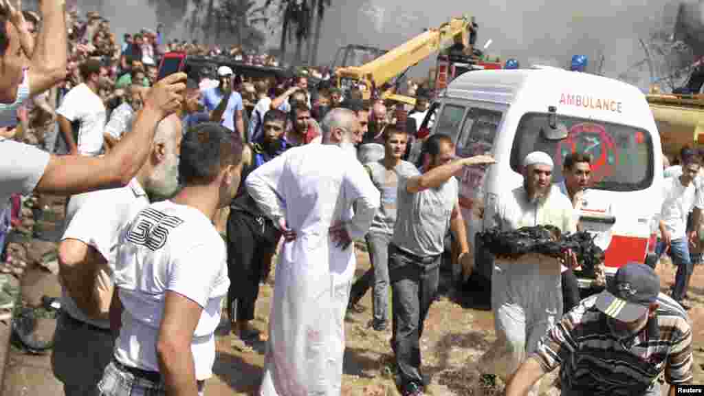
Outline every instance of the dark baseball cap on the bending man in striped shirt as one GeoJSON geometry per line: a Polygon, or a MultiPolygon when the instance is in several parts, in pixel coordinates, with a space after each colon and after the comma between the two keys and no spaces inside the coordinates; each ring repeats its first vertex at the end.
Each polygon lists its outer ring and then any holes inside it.
{"type": "Polygon", "coordinates": [[[607,290],[596,298],[596,308],[617,321],[632,322],[658,300],[660,278],[646,264],[630,262],[616,271],[607,290]]]}

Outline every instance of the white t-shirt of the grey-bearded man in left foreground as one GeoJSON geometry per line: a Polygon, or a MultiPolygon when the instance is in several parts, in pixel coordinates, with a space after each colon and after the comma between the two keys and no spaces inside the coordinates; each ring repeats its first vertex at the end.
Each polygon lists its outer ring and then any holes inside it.
{"type": "MultiPolygon", "coordinates": [[[[61,240],[79,240],[92,246],[108,262],[106,267],[100,268],[98,278],[99,293],[105,297],[101,299],[103,314],[109,311],[112,299],[115,269],[113,247],[118,243],[122,227],[146,206],[149,206],[149,198],[137,179],[132,179],[125,187],[73,195],[68,202],[66,228],[61,240]]],[[[67,314],[79,321],[99,328],[110,328],[110,321],[96,321],[85,316],[63,287],[61,306],[67,314]]]]}

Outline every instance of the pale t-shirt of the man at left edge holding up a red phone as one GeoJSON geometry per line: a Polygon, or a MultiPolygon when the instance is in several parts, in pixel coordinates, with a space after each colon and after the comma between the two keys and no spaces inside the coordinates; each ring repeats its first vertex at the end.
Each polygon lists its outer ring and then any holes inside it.
{"type": "Polygon", "coordinates": [[[12,194],[30,194],[44,175],[49,153],[0,137],[0,213],[12,194]]]}

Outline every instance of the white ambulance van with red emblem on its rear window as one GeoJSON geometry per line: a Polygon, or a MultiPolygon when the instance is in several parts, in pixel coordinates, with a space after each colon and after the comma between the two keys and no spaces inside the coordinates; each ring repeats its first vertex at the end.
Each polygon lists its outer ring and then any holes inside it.
{"type": "MultiPolygon", "coordinates": [[[[636,87],[559,68],[472,71],[453,80],[432,104],[420,125],[423,132],[450,135],[459,156],[490,153],[498,161],[486,175],[476,168],[458,175],[474,273],[482,282],[489,283],[492,269],[475,238],[484,230],[484,202],[519,187],[520,163],[536,150],[553,157],[555,183],[562,182],[566,154],[593,156],[593,187],[580,215],[605,250],[608,276],[628,261],[654,257],[662,149],[650,107],[636,87]]],[[[591,287],[592,280],[579,275],[580,287],[591,287]]]]}

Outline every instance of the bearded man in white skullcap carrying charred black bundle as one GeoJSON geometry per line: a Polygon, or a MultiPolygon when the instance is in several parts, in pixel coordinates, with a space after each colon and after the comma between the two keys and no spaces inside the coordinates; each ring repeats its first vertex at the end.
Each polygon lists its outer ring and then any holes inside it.
{"type": "MultiPolygon", "coordinates": [[[[501,231],[534,225],[554,225],[562,233],[577,231],[570,199],[552,185],[553,159],[534,151],[522,162],[523,185],[499,194],[486,205],[485,228],[501,231]]],[[[496,259],[491,274],[491,309],[496,343],[479,367],[508,380],[534,352],[548,326],[562,315],[560,261],[541,254],[517,260],[496,259]],[[501,367],[501,369],[500,369],[501,367]]],[[[529,395],[537,395],[539,383],[529,395]]]]}

